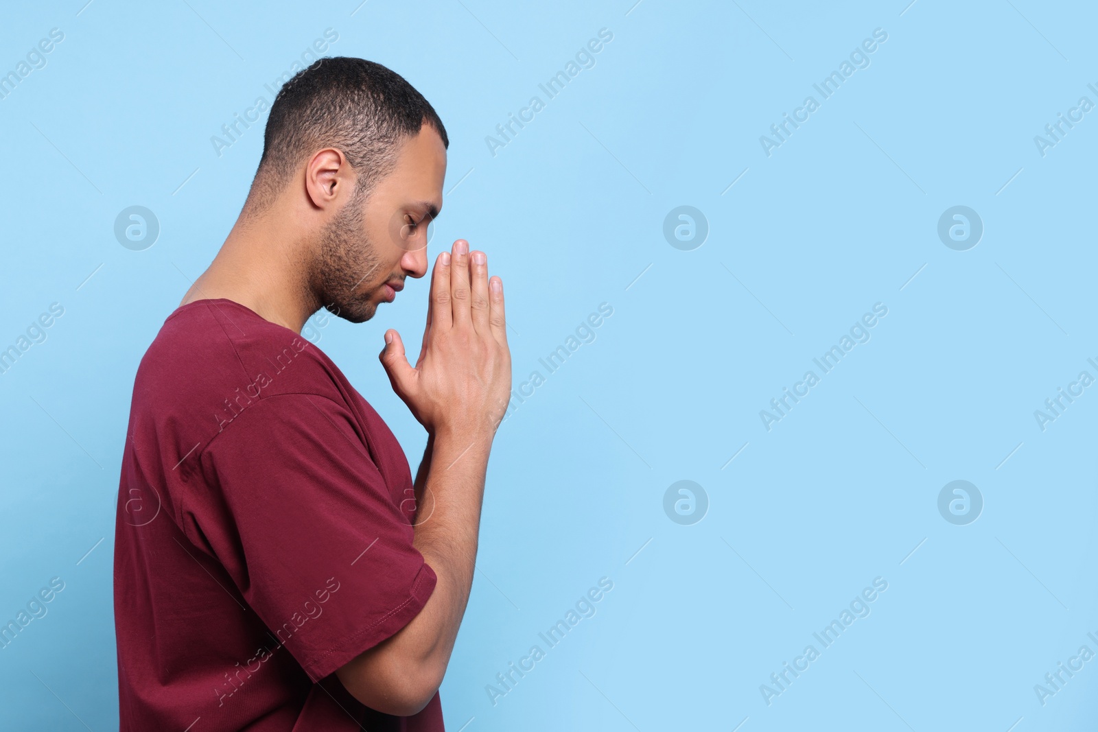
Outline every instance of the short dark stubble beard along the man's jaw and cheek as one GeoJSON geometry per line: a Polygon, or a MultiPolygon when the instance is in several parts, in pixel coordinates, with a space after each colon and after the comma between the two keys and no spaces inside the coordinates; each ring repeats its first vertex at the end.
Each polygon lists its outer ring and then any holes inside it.
{"type": "Polygon", "coordinates": [[[320,252],[311,267],[310,282],[328,312],[351,323],[373,317],[378,304],[376,290],[359,292],[372,283],[381,270],[377,250],[362,225],[362,200],[359,191],[321,232],[320,252]],[[356,294],[357,293],[357,294],[356,294]]]}

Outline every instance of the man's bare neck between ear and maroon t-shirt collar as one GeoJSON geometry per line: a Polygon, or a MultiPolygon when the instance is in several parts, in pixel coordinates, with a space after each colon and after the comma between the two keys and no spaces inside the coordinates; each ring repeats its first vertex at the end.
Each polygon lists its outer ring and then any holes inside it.
{"type": "MultiPolygon", "coordinates": [[[[276,203],[268,211],[279,211],[276,203]]],[[[271,323],[301,333],[322,303],[310,286],[300,233],[277,215],[236,219],[217,256],[180,305],[225,299],[271,323]]]]}

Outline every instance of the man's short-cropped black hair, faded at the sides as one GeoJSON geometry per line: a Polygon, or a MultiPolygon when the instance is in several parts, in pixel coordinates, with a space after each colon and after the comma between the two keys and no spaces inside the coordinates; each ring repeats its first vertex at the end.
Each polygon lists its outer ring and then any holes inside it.
{"type": "Polygon", "coordinates": [[[306,156],[335,147],[359,177],[358,199],[390,172],[401,138],[425,124],[449,148],[435,108],[404,77],[365,58],[321,58],[282,85],[274,98],[249,198],[258,194],[253,203],[265,209],[306,156]]]}

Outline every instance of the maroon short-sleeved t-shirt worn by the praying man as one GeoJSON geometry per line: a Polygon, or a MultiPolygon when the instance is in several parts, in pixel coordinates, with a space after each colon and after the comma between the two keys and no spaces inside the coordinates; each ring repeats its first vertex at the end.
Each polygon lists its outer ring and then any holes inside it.
{"type": "Polygon", "coordinates": [[[334,672],[435,588],[407,458],[316,346],[228,300],[137,369],[114,544],[121,730],[442,730],[334,672]]]}

